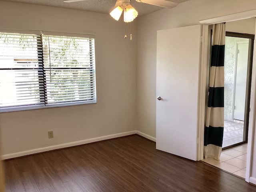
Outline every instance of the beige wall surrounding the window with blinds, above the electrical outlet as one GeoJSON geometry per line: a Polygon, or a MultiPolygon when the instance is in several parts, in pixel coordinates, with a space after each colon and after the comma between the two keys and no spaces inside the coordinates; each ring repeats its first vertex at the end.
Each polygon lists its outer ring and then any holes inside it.
{"type": "Polygon", "coordinates": [[[0,28],[96,34],[97,104],[1,113],[4,155],[136,130],[136,24],[130,41],[108,14],[0,1],[0,18],[0,28]]]}

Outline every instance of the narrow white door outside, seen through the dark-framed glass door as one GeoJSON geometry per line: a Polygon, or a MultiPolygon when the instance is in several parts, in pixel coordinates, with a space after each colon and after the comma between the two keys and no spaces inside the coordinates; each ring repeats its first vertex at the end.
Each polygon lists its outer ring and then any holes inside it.
{"type": "Polygon", "coordinates": [[[244,121],[249,40],[237,42],[234,119],[244,121]]]}

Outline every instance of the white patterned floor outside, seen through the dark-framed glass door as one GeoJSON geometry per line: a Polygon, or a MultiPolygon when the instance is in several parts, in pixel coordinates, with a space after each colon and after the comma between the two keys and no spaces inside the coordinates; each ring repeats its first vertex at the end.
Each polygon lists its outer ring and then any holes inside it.
{"type": "Polygon", "coordinates": [[[230,146],[243,141],[244,122],[224,121],[224,134],[222,147],[230,146]]]}

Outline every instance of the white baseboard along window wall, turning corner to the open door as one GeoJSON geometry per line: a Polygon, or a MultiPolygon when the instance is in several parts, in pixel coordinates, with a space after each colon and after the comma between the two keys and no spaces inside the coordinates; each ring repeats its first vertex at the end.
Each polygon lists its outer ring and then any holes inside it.
{"type": "Polygon", "coordinates": [[[108,139],[113,139],[113,138],[118,138],[118,137],[123,137],[123,136],[128,136],[128,135],[133,135],[133,134],[139,134],[145,138],[149,137],[148,139],[150,139],[150,137],[151,137],[142,132],[138,133],[138,131],[128,131],[128,132],[122,132],[122,133],[106,135],[106,136],[96,137],[96,138],[90,138],[90,139],[85,139],[85,140],[80,140],[80,141],[75,141],[75,142],[69,142],[69,143],[49,146],[49,147],[37,148],[37,149],[32,149],[32,150],[27,150],[27,151],[12,153],[12,154],[6,154],[6,155],[2,155],[2,160],[17,158],[17,157],[21,157],[21,156],[36,154],[36,153],[42,153],[42,152],[51,151],[51,150],[57,150],[57,149],[61,149],[61,148],[73,147],[73,146],[78,146],[78,145],[83,145],[83,144],[88,144],[88,143],[93,143],[93,142],[98,142],[98,141],[103,141],[103,140],[108,140],[108,139]]]}

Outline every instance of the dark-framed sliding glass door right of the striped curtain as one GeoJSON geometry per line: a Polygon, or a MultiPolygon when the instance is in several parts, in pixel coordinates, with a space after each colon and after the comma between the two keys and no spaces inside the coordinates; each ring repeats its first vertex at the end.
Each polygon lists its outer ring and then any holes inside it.
{"type": "Polygon", "coordinates": [[[254,35],[226,32],[223,150],[247,143],[254,35]]]}

